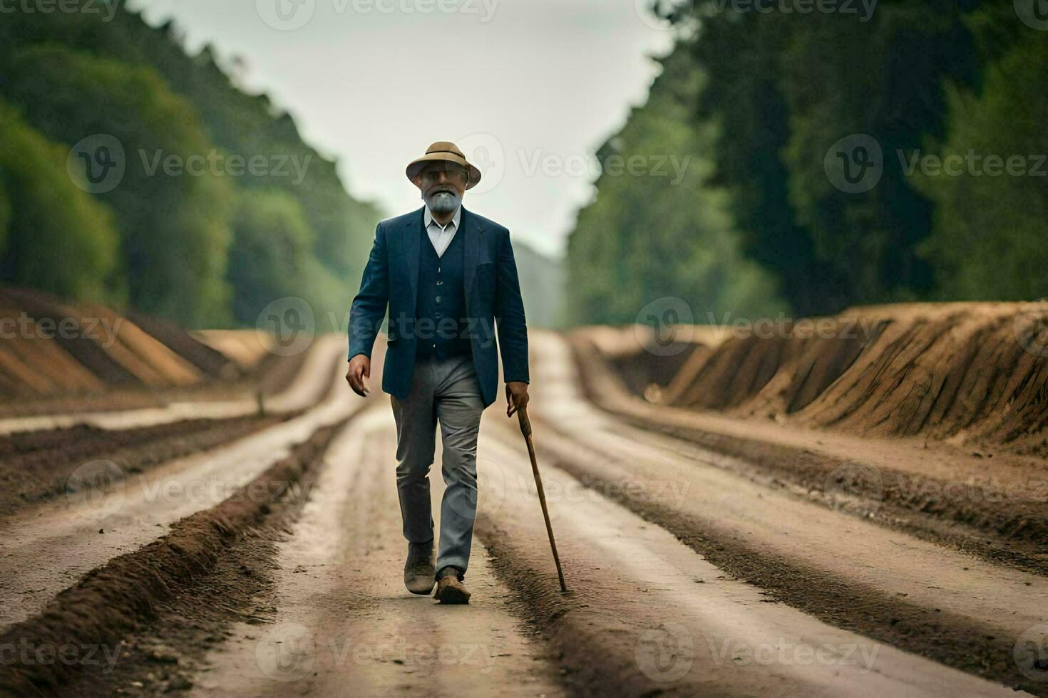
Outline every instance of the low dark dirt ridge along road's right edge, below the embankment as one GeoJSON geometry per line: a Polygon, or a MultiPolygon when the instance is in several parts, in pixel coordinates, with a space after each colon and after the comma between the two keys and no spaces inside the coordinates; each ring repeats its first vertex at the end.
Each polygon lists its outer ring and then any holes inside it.
{"type": "Polygon", "coordinates": [[[839,458],[815,448],[689,426],[691,415],[685,410],[651,405],[630,395],[584,336],[572,335],[569,343],[583,393],[632,426],[726,455],[722,467],[831,509],[1048,575],[1048,468],[1031,472],[1021,490],[1009,489],[1006,482],[995,482],[992,472],[982,479],[970,475],[946,479],[872,465],[863,453],[839,458]]]}

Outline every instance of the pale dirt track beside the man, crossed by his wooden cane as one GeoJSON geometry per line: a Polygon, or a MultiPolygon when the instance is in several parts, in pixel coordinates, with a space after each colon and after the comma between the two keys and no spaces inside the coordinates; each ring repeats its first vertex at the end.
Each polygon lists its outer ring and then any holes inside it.
{"type": "MultiPolygon", "coordinates": [[[[570,589],[562,595],[527,456],[520,444],[505,445],[508,436],[482,437],[485,463],[499,473],[504,496],[480,532],[500,577],[564,653],[580,693],[1014,695],[767,603],[759,589],[603,497],[550,501],[570,589]]],[[[538,449],[542,459],[542,442],[538,449]]],[[[542,467],[547,493],[573,481],[542,467]]]]}

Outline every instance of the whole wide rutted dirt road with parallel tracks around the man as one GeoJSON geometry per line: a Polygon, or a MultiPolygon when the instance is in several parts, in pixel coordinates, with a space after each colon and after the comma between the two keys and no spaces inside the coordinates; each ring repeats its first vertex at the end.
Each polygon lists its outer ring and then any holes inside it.
{"type": "MultiPolygon", "coordinates": [[[[347,398],[335,376],[302,416],[148,471],[235,488],[337,425],[294,471],[298,496],[254,502],[241,527],[216,514],[233,534],[192,581],[155,568],[170,590],[133,630],[75,635],[113,661],[48,672],[0,657],[0,691],[24,680],[70,695],[1048,695],[1043,576],[747,477],[722,453],[619,420],[583,397],[558,336],[536,333],[531,364],[529,412],[569,593],[556,586],[516,420],[496,405],[479,445],[473,601],[409,594],[380,376],[369,400],[347,398]]],[[[438,452],[435,499],[439,473],[438,452]]],[[[0,520],[17,534],[0,558],[17,580],[0,587],[0,646],[40,641],[53,629],[41,615],[71,612],[59,603],[67,592],[51,598],[87,568],[190,535],[179,517],[206,523],[224,505],[138,491],[100,524],[111,540],[67,506],[0,520]],[[32,559],[41,549],[46,564],[32,559]]],[[[177,560],[179,546],[166,555],[177,560]]]]}

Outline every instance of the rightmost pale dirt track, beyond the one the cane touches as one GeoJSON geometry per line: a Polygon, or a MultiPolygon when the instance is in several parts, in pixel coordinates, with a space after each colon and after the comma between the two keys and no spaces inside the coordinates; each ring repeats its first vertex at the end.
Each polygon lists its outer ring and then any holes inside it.
{"type": "Polygon", "coordinates": [[[545,418],[537,440],[547,458],[585,487],[611,493],[726,571],[829,623],[1043,691],[1017,666],[1013,650],[1024,633],[1048,621],[1048,580],[682,456],[679,442],[586,405],[561,340],[536,345],[532,422],[545,418]]]}

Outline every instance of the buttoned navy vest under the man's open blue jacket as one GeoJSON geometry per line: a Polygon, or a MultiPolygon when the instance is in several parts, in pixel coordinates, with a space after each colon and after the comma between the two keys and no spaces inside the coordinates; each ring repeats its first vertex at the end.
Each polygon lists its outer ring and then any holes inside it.
{"type": "Polygon", "coordinates": [[[444,359],[470,354],[465,312],[465,243],[456,230],[442,256],[422,230],[418,255],[418,298],[415,303],[416,356],[444,359]]]}

